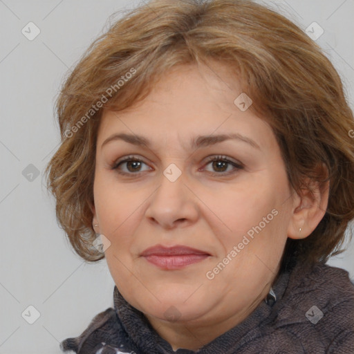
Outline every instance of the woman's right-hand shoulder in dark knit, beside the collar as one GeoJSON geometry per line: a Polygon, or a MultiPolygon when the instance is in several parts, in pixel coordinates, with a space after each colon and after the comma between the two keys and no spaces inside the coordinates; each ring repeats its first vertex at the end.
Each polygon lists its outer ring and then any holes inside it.
{"type": "Polygon", "coordinates": [[[274,307],[273,325],[301,343],[304,353],[350,353],[354,348],[354,286],[346,270],[324,263],[297,265],[274,307]]]}

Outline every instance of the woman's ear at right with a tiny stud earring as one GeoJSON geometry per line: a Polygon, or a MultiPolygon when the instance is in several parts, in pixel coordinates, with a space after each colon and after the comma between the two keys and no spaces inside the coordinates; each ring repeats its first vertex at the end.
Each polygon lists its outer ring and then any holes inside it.
{"type": "MultiPolygon", "coordinates": [[[[319,168],[325,169],[324,174],[327,178],[328,169],[326,166],[322,165],[319,168]]],[[[288,225],[288,237],[290,239],[305,239],[315,230],[324,214],[326,214],[329,180],[320,183],[307,178],[304,183],[306,187],[301,189],[301,195],[296,194],[293,198],[292,216],[288,225]]]]}

